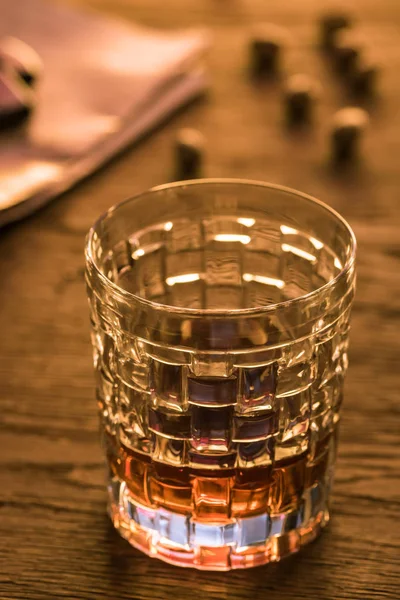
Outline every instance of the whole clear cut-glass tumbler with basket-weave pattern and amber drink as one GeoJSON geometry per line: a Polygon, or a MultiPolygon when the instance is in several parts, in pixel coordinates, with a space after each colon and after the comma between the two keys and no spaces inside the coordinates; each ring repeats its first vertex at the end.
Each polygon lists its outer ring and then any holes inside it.
{"type": "Polygon", "coordinates": [[[91,230],[109,512],[132,545],[227,570],[326,524],[354,246],[321,203],[227,180],[156,188],[91,230]]]}

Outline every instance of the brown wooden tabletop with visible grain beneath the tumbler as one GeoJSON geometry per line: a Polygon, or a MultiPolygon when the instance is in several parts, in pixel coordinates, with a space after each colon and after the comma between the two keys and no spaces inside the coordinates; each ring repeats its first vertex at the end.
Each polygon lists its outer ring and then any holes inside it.
{"type": "Polygon", "coordinates": [[[399,598],[398,0],[357,3],[360,26],[384,73],[364,159],[336,175],[327,163],[327,130],[346,95],[314,47],[317,0],[86,3],[157,27],[210,26],[213,82],[208,99],[0,233],[0,597],[399,598]],[[257,20],[289,27],[288,68],[322,81],[307,134],[284,131],[279,84],[257,87],[247,76],[246,26],[257,20]],[[171,179],[171,148],[182,126],[200,128],[208,140],[205,175],[269,180],[318,196],[350,221],[359,241],[332,522],[299,555],[228,574],[170,567],[120,539],[105,512],[98,444],[83,285],[85,234],[110,204],[171,179]]]}

